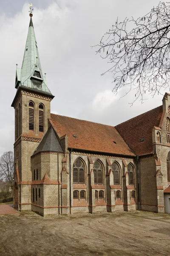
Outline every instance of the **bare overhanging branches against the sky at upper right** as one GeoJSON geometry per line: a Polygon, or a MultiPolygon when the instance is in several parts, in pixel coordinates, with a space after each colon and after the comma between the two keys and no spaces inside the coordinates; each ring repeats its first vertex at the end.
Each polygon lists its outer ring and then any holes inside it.
{"type": "Polygon", "coordinates": [[[111,65],[105,73],[113,74],[113,93],[126,86],[127,93],[135,90],[134,101],[143,102],[146,91],[154,96],[161,88],[167,89],[170,81],[170,3],[160,2],[137,20],[126,17],[119,22],[117,19],[96,47],[96,53],[108,59],[111,65]]]}

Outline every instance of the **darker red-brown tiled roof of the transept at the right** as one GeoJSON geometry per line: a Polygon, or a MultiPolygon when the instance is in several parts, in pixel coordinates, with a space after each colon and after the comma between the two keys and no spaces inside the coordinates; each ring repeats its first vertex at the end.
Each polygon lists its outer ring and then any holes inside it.
{"type": "Polygon", "coordinates": [[[162,112],[161,105],[115,126],[136,155],[140,156],[153,152],[152,130],[154,126],[159,127],[162,112]]]}

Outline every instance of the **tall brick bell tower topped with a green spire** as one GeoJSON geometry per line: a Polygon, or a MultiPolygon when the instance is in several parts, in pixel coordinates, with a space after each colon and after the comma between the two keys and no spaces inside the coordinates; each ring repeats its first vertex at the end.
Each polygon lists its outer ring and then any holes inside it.
{"type": "Polygon", "coordinates": [[[54,98],[42,73],[32,12],[15,88],[17,93],[11,105],[15,110],[14,207],[22,211],[31,210],[31,155],[48,130],[50,102],[54,98]]]}

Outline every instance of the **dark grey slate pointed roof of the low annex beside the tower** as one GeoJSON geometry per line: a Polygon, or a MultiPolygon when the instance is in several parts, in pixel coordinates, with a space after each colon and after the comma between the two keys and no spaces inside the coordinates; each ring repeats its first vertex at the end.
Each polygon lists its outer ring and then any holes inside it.
{"type": "Polygon", "coordinates": [[[40,152],[63,152],[52,126],[48,128],[33,155],[40,152]]]}

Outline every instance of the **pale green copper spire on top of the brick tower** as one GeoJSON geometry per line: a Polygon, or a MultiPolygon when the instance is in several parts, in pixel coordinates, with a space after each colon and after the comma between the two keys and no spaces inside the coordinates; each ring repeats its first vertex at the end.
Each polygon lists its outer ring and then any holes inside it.
{"type": "Polygon", "coordinates": [[[17,68],[15,87],[17,89],[20,86],[27,87],[28,89],[40,90],[43,93],[51,94],[47,87],[46,79],[42,73],[37,41],[32,22],[32,13],[30,13],[30,17],[23,64],[21,69],[17,68]]]}

